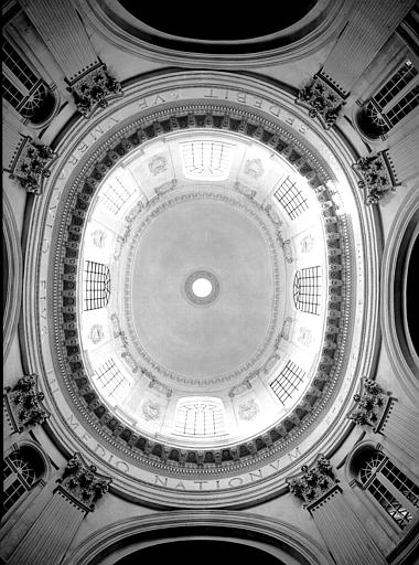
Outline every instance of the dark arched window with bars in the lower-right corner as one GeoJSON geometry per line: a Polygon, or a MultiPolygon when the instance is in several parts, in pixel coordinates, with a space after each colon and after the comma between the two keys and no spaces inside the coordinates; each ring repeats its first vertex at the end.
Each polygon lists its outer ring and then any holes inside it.
{"type": "Polygon", "coordinates": [[[409,525],[419,508],[419,487],[388,457],[367,451],[359,468],[359,481],[400,530],[409,525]]]}

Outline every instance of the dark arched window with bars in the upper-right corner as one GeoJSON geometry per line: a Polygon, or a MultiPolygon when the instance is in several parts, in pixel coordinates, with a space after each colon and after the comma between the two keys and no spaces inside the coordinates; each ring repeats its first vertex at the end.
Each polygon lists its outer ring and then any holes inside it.
{"type": "Polygon", "coordinates": [[[372,96],[357,115],[363,134],[376,139],[389,131],[419,105],[419,76],[410,60],[372,96]]]}

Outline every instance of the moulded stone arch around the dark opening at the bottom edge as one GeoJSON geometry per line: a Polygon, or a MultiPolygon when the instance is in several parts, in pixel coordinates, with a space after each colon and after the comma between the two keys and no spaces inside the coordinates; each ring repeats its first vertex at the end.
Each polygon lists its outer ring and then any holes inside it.
{"type": "MultiPolygon", "coordinates": [[[[63,565],[110,565],[141,547],[173,540],[229,540],[255,544],[292,565],[331,565],[329,553],[299,529],[275,519],[233,511],[173,511],[115,522],[78,544],[63,565]],[[257,537],[256,537],[257,536],[257,537]],[[292,559],[292,561],[291,561],[292,559]]],[[[281,563],[281,561],[279,561],[281,563]]]]}

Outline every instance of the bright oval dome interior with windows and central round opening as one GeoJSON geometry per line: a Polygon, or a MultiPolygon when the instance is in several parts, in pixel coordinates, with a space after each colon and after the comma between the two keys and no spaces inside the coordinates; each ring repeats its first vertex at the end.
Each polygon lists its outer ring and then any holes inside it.
{"type": "Polygon", "coordinates": [[[84,227],[92,385],[133,431],[180,448],[269,430],[322,362],[329,253],[318,195],[259,141],[195,130],[143,143],[104,179],[84,227]]]}

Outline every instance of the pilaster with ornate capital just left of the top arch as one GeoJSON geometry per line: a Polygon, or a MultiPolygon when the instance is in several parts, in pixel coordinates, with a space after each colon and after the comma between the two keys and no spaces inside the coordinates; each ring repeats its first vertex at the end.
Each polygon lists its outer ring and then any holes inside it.
{"type": "Polygon", "coordinates": [[[108,100],[122,95],[120,84],[108,73],[86,33],[71,0],[20,0],[62,68],[67,90],[86,118],[108,100]]]}

